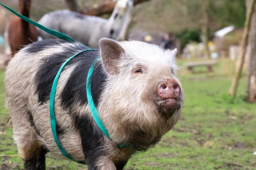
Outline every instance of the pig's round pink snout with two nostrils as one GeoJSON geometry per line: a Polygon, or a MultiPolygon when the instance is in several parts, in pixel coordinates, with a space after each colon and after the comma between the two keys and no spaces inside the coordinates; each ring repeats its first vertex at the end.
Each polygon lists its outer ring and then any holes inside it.
{"type": "Polygon", "coordinates": [[[166,79],[158,85],[158,95],[163,99],[176,99],[181,93],[181,87],[174,79],[166,79]]]}

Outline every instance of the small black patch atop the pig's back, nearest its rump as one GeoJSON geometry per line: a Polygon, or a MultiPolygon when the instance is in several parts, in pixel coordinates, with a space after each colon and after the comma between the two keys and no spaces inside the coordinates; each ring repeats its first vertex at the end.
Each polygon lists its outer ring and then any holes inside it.
{"type": "Polygon", "coordinates": [[[42,41],[36,41],[33,44],[28,45],[28,48],[25,50],[25,52],[28,53],[37,53],[42,50],[51,48],[53,45],[58,45],[60,43],[66,42],[62,39],[46,39],[42,41]]]}

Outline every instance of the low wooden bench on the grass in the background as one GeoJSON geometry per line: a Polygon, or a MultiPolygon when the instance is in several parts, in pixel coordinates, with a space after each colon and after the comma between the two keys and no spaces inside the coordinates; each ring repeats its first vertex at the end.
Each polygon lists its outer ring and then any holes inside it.
{"type": "Polygon", "coordinates": [[[188,62],[185,63],[185,66],[188,68],[188,70],[190,70],[191,72],[193,72],[194,67],[198,67],[198,66],[206,66],[208,72],[213,72],[213,66],[217,64],[217,61],[215,60],[210,60],[210,61],[196,61],[196,62],[188,62]]]}

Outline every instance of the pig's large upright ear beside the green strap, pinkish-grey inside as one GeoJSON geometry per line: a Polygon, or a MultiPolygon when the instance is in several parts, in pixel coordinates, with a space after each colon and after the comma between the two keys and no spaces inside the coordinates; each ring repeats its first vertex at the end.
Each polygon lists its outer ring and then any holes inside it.
{"type": "Polygon", "coordinates": [[[111,75],[118,74],[118,60],[120,60],[124,49],[118,44],[118,42],[107,38],[100,39],[99,45],[102,62],[106,71],[111,75]]]}

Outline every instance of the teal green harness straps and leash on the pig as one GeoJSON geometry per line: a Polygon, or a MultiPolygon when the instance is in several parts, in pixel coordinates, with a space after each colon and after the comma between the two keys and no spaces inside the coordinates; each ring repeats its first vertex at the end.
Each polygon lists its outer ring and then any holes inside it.
{"type": "MultiPolygon", "coordinates": [[[[45,32],[49,33],[49,34],[52,34],[54,36],[57,36],[58,38],[60,39],[64,39],[66,41],[70,41],[70,42],[75,42],[74,39],[72,39],[71,37],[69,37],[68,35],[65,35],[63,33],[60,33],[58,31],[55,31],[55,30],[52,30],[52,29],[49,29],[47,27],[44,27],[42,26],[41,24],[31,20],[30,18],[27,18],[19,13],[17,13],[16,11],[12,10],[11,8],[9,8],[8,6],[2,4],[0,2],[0,5],[4,6],[7,10],[11,11],[12,13],[14,13],[16,16],[20,17],[21,19],[27,21],[28,23],[31,23],[32,25],[44,30],[45,32]]],[[[85,45],[84,45],[85,46],[85,45]]],[[[87,47],[87,46],[85,46],[87,47]]],[[[85,162],[83,161],[76,161],[74,158],[72,158],[70,155],[68,155],[65,151],[65,149],[60,145],[59,143],[59,140],[58,140],[58,137],[57,137],[57,132],[56,132],[56,119],[55,119],[55,114],[54,114],[54,97],[55,97],[55,92],[56,92],[56,87],[57,87],[57,83],[58,83],[58,79],[59,79],[59,76],[60,76],[60,73],[62,72],[62,69],[64,68],[64,66],[66,65],[66,63],[68,63],[72,58],[78,56],[80,53],[82,52],[86,52],[86,51],[97,51],[96,49],[91,49],[90,47],[87,47],[88,49],[87,50],[84,50],[84,51],[80,51],[78,53],[76,53],[75,55],[73,55],[72,57],[68,58],[63,64],[62,66],[60,67],[56,77],[54,78],[54,81],[53,81],[53,85],[52,85],[52,89],[51,89],[51,92],[50,92],[50,106],[49,106],[49,109],[50,109],[50,124],[51,124],[51,127],[52,127],[52,133],[53,133],[53,138],[54,138],[54,141],[55,143],[57,144],[58,148],[60,149],[60,151],[62,152],[62,154],[66,157],[66,158],[69,158],[71,160],[73,160],[74,162],[77,162],[79,164],[85,164],[85,162]]],[[[103,132],[103,134],[109,138],[110,138],[110,135],[108,134],[108,131],[107,129],[105,128],[105,126],[103,125],[102,121],[100,120],[100,117],[98,115],[98,112],[97,112],[97,109],[95,107],[95,104],[94,104],[94,101],[92,99],[92,95],[91,95],[91,76],[92,76],[92,73],[93,73],[93,70],[95,68],[95,63],[96,61],[99,59],[100,57],[97,57],[95,59],[95,61],[92,63],[90,69],[89,69],[89,72],[88,72],[88,75],[87,75],[87,79],[86,79],[86,94],[87,94],[87,101],[88,101],[88,105],[89,105],[89,108],[90,108],[90,111],[91,111],[91,114],[92,114],[92,117],[94,118],[94,121],[95,123],[97,124],[97,126],[100,128],[100,130],[103,132]]],[[[125,144],[125,143],[122,143],[120,144],[118,147],[119,148],[129,148],[131,147],[132,145],[130,144],[125,144]]]]}

